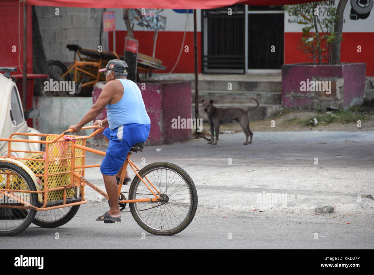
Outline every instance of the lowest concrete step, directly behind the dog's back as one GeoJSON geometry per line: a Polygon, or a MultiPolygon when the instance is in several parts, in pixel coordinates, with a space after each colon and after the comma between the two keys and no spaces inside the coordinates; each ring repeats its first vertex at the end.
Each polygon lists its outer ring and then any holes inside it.
{"type": "MultiPolygon", "coordinates": [[[[244,110],[248,110],[249,108],[256,107],[256,104],[214,104],[214,106],[218,108],[243,108],[244,110]]],[[[256,110],[249,112],[251,121],[267,119],[273,116],[281,107],[282,105],[280,104],[260,104],[256,110]]],[[[192,117],[195,117],[194,103],[192,104],[192,117]]],[[[201,104],[199,104],[199,117],[202,118],[203,121],[208,121],[208,116],[204,112],[201,104]]]]}

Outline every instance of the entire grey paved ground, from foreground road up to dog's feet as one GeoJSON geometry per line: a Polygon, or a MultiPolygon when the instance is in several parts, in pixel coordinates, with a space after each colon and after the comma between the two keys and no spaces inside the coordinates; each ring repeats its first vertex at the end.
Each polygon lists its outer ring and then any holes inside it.
{"type": "MultiPolygon", "coordinates": [[[[89,203],[69,223],[56,229],[32,224],[1,238],[0,248],[374,248],[374,201],[361,198],[374,193],[374,132],[255,132],[248,146],[243,138],[222,134],[216,146],[202,139],[146,146],[132,156],[140,167],[173,162],[194,180],[197,213],[177,235],[146,233],[131,213],[123,213],[122,223],[95,221],[107,201],[87,189],[89,203]],[[259,202],[263,192],[288,200],[259,202]],[[321,205],[335,210],[315,214],[321,205]]],[[[86,163],[101,159],[88,154],[86,163]]],[[[86,175],[104,188],[98,168],[86,175]]]]}

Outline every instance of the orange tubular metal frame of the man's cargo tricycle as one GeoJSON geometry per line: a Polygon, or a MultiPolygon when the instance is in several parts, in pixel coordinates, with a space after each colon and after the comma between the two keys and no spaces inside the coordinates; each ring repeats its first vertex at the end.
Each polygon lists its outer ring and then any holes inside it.
{"type": "MultiPolygon", "coordinates": [[[[38,211],[46,211],[46,210],[52,210],[52,209],[57,209],[57,208],[70,207],[70,206],[79,205],[79,204],[85,204],[87,202],[87,199],[85,199],[85,197],[84,197],[85,196],[85,185],[86,184],[88,186],[90,186],[93,190],[95,190],[96,192],[98,192],[99,194],[101,194],[102,196],[104,196],[105,198],[109,199],[107,193],[105,193],[103,190],[101,190],[99,187],[97,187],[95,184],[91,183],[90,181],[88,181],[85,178],[85,168],[92,168],[92,167],[99,167],[100,166],[100,164],[97,164],[97,165],[85,165],[85,156],[86,156],[85,152],[87,151],[87,152],[91,152],[91,153],[95,153],[95,154],[98,154],[98,155],[105,156],[105,152],[102,152],[100,150],[96,150],[96,149],[92,149],[92,148],[86,147],[86,140],[88,138],[92,138],[94,135],[98,134],[103,128],[100,128],[98,125],[82,127],[82,130],[84,130],[84,129],[93,129],[93,128],[98,128],[98,129],[96,131],[94,131],[91,135],[88,135],[88,136],[67,135],[68,132],[72,131],[72,129],[68,129],[67,131],[65,131],[62,134],[58,135],[55,139],[53,139],[51,141],[45,141],[45,140],[25,140],[25,139],[16,139],[16,138],[12,138],[12,137],[14,135],[39,136],[39,137],[55,136],[53,134],[13,133],[13,134],[11,134],[9,136],[9,138],[0,138],[0,141],[7,141],[8,142],[8,155],[0,157],[0,161],[3,158],[10,158],[10,159],[17,159],[17,160],[41,161],[41,159],[15,158],[15,157],[10,156],[10,153],[11,152],[45,153],[45,152],[48,152],[49,144],[56,143],[56,142],[66,142],[66,140],[62,138],[64,136],[71,137],[71,138],[74,138],[76,140],[78,140],[78,139],[82,139],[83,140],[83,146],[75,144],[74,142],[71,144],[72,156],[71,156],[71,158],[69,158],[69,159],[71,159],[71,170],[68,171],[68,172],[63,172],[63,173],[69,173],[70,172],[70,184],[64,185],[64,186],[61,186],[61,187],[48,188],[48,176],[49,175],[53,175],[53,174],[48,174],[48,164],[49,164],[49,162],[57,161],[57,159],[50,160],[50,159],[48,159],[48,154],[46,154],[46,158],[45,158],[45,161],[44,161],[45,162],[45,164],[44,164],[44,174],[37,174],[36,175],[38,177],[44,177],[44,190],[39,190],[39,191],[16,190],[17,192],[21,192],[21,193],[22,192],[23,193],[44,193],[44,202],[43,202],[43,206],[42,207],[36,207],[35,205],[27,204],[26,202],[22,201],[19,198],[16,198],[11,193],[9,193],[9,192],[15,191],[14,189],[10,189],[9,179],[7,180],[7,188],[6,189],[0,189],[0,194],[3,194],[5,196],[8,196],[8,197],[12,198],[13,200],[17,201],[19,204],[29,205],[29,206],[27,207],[27,206],[2,205],[1,207],[21,208],[21,209],[32,208],[32,209],[35,209],[35,210],[38,210],[38,211]],[[45,150],[45,152],[42,152],[42,151],[11,150],[11,148],[10,148],[11,142],[43,143],[43,144],[46,144],[46,150],[45,150]],[[83,156],[77,156],[77,157],[75,156],[75,149],[76,148],[83,150],[83,152],[84,152],[83,156]],[[83,162],[82,162],[83,165],[75,166],[75,159],[76,158],[83,158],[83,162]],[[77,171],[82,171],[82,175],[78,174],[77,171]],[[70,189],[70,188],[74,188],[74,187],[80,187],[80,188],[82,188],[82,190],[81,190],[82,199],[79,202],[66,203],[66,190],[70,189]],[[64,190],[63,203],[61,205],[56,205],[56,206],[52,206],[52,207],[46,207],[48,192],[55,191],[55,190],[64,190]]],[[[144,178],[145,178],[145,180],[147,180],[148,184],[144,181],[143,178],[141,178],[141,176],[137,172],[137,171],[140,171],[140,169],[134,164],[134,162],[132,162],[130,160],[130,155],[131,154],[132,153],[130,151],[128,153],[128,155],[127,155],[127,158],[126,158],[126,161],[125,161],[125,165],[123,165],[123,169],[122,169],[122,173],[121,173],[121,181],[120,181],[120,184],[118,186],[118,196],[120,195],[120,192],[121,192],[121,189],[122,189],[122,185],[123,185],[122,184],[123,183],[123,179],[125,177],[125,172],[126,172],[127,166],[129,165],[132,168],[132,170],[135,172],[135,174],[137,175],[137,177],[140,178],[140,180],[144,183],[144,185],[147,186],[147,188],[150,190],[150,192],[154,195],[154,198],[148,198],[148,199],[127,199],[127,200],[119,201],[119,203],[134,203],[134,202],[147,202],[147,201],[157,202],[157,201],[159,201],[160,200],[160,196],[159,196],[160,192],[159,192],[159,190],[157,190],[157,188],[153,185],[153,183],[151,183],[151,181],[147,177],[144,177],[144,178]]]]}

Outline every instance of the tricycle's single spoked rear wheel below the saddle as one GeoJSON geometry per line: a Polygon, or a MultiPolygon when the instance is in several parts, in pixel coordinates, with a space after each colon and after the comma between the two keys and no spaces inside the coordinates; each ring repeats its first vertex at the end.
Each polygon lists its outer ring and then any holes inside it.
{"type": "MultiPolygon", "coordinates": [[[[161,201],[130,203],[135,221],[154,235],[174,235],[184,230],[191,223],[197,208],[196,187],[187,172],[169,162],[154,162],[141,169],[139,175],[161,197],[161,201]]],[[[145,198],[154,198],[154,195],[140,178],[134,177],[129,199],[145,198]]]]}

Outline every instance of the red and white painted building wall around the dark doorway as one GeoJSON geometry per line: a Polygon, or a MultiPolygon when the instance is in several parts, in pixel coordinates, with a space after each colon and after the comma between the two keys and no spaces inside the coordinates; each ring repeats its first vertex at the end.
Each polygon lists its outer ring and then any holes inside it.
{"type": "MultiPolygon", "coordinates": [[[[326,1],[322,7],[337,7],[338,0],[326,1]]],[[[374,10],[366,19],[349,19],[351,4],[348,1],[344,10],[343,42],[341,42],[341,62],[365,62],[367,64],[367,75],[374,76],[374,10]],[[357,47],[361,46],[361,52],[357,47]]],[[[126,36],[126,26],[122,19],[122,9],[113,9],[116,12],[116,49],[123,49],[126,36]]],[[[109,10],[107,10],[109,11],[109,10]]],[[[166,17],[166,29],[160,30],[156,43],[155,57],[161,59],[168,67],[166,71],[155,71],[155,73],[168,73],[177,61],[183,34],[187,22],[186,38],[183,46],[188,46],[189,52],[182,52],[177,67],[173,73],[194,72],[193,52],[193,14],[179,13],[178,10],[165,9],[159,15],[166,17]],[[188,19],[187,19],[188,16],[188,19]]],[[[250,16],[250,15],[247,15],[250,16]]],[[[199,54],[199,73],[201,72],[201,23],[200,10],[197,10],[197,45],[199,54]]],[[[311,62],[300,49],[297,49],[305,25],[291,23],[292,17],[284,13],[284,64],[311,62]]],[[[139,40],[139,52],[152,55],[154,32],[139,26],[134,27],[134,37],[139,40]]],[[[250,39],[250,35],[248,35],[250,39]]],[[[108,48],[113,50],[113,32],[107,33],[108,48]]],[[[280,72],[280,70],[279,70],[280,72]]]]}

